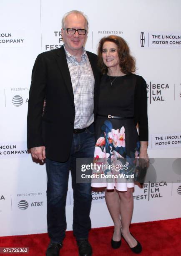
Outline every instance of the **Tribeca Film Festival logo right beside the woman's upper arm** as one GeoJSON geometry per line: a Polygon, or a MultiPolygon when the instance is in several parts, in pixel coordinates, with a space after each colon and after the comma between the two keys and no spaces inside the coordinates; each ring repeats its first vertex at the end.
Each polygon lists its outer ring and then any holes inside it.
{"type": "Polygon", "coordinates": [[[170,89],[168,84],[153,84],[149,82],[146,84],[147,97],[149,99],[150,104],[152,102],[163,102],[165,98],[163,97],[163,92],[170,89]]]}

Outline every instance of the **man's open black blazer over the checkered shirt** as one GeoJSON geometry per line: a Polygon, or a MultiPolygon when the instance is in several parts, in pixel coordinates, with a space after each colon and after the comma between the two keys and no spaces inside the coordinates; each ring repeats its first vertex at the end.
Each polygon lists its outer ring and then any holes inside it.
{"type": "MultiPolygon", "coordinates": [[[[96,113],[100,74],[96,54],[86,52],[95,79],[96,113]]],[[[54,161],[67,161],[73,140],[74,119],[73,88],[62,46],[39,54],[35,60],[28,101],[28,148],[45,146],[46,157],[54,161]],[[43,113],[44,100],[46,105],[43,113]]]]}

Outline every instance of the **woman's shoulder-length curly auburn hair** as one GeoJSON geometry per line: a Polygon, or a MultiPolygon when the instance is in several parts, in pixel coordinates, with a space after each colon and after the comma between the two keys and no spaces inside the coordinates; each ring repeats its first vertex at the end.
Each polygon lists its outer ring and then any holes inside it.
{"type": "Polygon", "coordinates": [[[130,55],[130,49],[126,41],[120,36],[106,36],[99,41],[98,45],[98,67],[101,70],[101,73],[106,74],[108,72],[108,68],[103,63],[102,57],[103,44],[107,41],[113,42],[118,46],[118,56],[120,59],[121,72],[123,72],[124,74],[135,72],[136,61],[130,55]]]}

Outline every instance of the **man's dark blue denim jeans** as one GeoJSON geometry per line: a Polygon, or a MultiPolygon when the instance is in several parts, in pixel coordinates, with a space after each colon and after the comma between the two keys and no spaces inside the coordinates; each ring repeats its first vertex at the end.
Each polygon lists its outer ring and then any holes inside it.
{"type": "MultiPolygon", "coordinates": [[[[70,157],[65,163],[46,159],[47,170],[47,224],[51,242],[61,243],[65,238],[65,205],[69,170],[73,187],[73,234],[77,240],[87,239],[91,228],[91,184],[76,183],[76,158],[93,158],[95,147],[93,125],[83,133],[73,135],[70,157]]],[[[61,154],[61,152],[60,152],[61,154]]]]}

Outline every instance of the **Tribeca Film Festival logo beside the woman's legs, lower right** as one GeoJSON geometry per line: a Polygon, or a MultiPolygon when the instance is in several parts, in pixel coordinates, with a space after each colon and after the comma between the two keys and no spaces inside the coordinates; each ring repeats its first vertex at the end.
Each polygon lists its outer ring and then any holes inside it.
{"type": "Polygon", "coordinates": [[[143,194],[133,195],[133,198],[135,200],[148,200],[148,201],[156,198],[161,198],[163,197],[163,195],[160,190],[163,189],[163,187],[165,186],[167,187],[166,182],[141,184],[141,188],[143,189],[143,194]]]}

